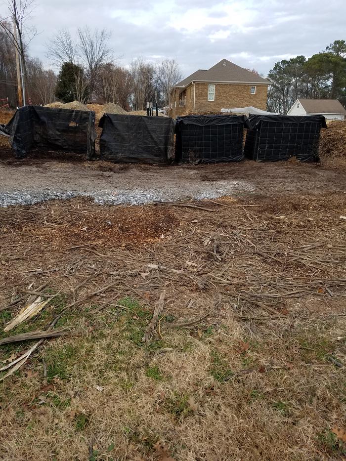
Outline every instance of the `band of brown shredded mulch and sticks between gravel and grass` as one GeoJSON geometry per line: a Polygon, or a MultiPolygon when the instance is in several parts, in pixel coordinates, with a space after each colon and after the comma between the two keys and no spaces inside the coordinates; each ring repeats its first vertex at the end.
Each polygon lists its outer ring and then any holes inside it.
{"type": "Polygon", "coordinates": [[[90,291],[115,283],[143,297],[184,287],[270,312],[292,298],[345,294],[344,194],[189,205],[73,199],[1,209],[0,280],[40,286],[37,274],[53,271],[49,283],[62,291],[91,276],[90,291]]]}

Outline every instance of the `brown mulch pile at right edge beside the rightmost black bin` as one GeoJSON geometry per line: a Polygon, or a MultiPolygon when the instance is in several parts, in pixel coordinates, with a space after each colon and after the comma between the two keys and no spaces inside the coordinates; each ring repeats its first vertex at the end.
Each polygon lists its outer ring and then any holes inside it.
{"type": "Polygon", "coordinates": [[[323,157],[346,157],[346,122],[332,122],[322,129],[320,153],[323,157]]]}

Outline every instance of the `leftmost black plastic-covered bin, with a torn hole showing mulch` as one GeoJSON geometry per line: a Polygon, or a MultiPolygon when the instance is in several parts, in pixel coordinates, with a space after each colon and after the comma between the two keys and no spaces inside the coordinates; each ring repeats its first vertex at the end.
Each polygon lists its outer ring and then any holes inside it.
{"type": "Polygon", "coordinates": [[[95,154],[95,113],[92,111],[24,106],[0,128],[0,134],[1,131],[10,136],[19,159],[36,148],[87,154],[87,159],[95,154]]]}

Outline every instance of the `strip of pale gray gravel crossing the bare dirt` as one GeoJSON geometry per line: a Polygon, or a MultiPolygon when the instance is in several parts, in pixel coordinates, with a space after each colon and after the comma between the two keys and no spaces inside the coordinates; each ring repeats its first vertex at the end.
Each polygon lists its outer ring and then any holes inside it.
{"type": "Polygon", "coordinates": [[[253,192],[254,186],[247,181],[216,181],[204,184],[202,190],[157,189],[121,189],[91,191],[61,190],[17,190],[0,191],[0,207],[12,205],[33,205],[47,200],[66,200],[74,197],[91,197],[100,205],[143,205],[151,202],[172,202],[182,199],[213,199],[240,192],[253,192]]]}

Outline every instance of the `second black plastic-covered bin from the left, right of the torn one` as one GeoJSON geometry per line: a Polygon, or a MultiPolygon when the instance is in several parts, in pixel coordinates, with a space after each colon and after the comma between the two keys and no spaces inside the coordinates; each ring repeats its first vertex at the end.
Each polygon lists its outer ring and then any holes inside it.
{"type": "Polygon", "coordinates": [[[168,117],[105,114],[100,157],[128,163],[167,164],[174,154],[174,121],[168,117]]]}

